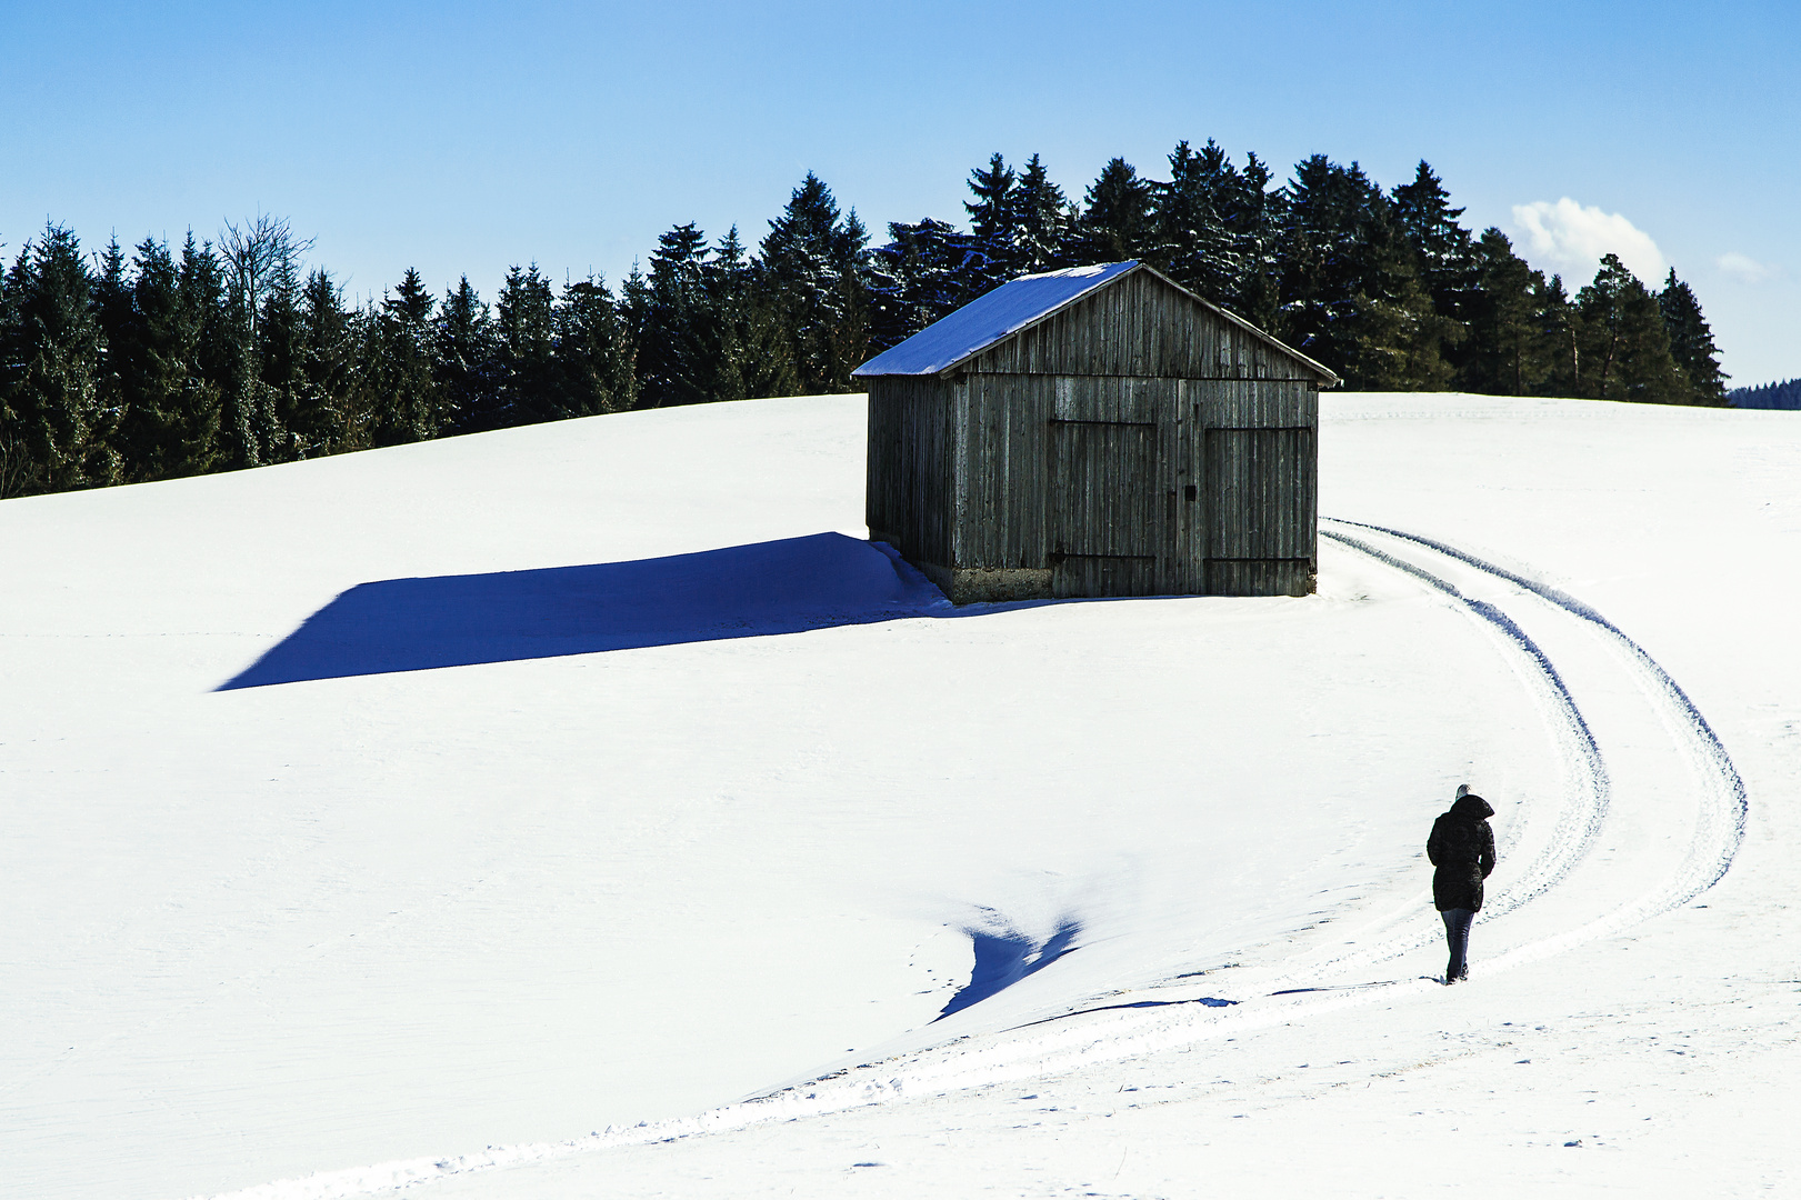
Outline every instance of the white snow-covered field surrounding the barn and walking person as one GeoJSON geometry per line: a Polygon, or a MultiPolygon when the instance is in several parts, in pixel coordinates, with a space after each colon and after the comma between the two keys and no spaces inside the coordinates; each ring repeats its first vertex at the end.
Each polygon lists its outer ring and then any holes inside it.
{"type": "Polygon", "coordinates": [[[951,611],[859,396],[5,501],[0,1195],[1801,1195],[1801,420],[1322,409],[1304,600],[951,611]]]}

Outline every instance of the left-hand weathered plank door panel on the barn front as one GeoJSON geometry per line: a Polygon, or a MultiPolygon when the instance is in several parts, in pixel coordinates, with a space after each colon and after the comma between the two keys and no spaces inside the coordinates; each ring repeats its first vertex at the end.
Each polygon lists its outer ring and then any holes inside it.
{"type": "Polygon", "coordinates": [[[1162,488],[1154,422],[1050,423],[1054,596],[1149,596],[1158,587],[1162,488]]]}

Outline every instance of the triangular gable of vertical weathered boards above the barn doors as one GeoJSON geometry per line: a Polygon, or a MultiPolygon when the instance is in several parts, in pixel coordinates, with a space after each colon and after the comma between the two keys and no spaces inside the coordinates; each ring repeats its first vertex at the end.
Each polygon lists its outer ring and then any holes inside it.
{"type": "Polygon", "coordinates": [[[1320,378],[1147,270],[1046,317],[964,368],[991,375],[1320,378]]]}

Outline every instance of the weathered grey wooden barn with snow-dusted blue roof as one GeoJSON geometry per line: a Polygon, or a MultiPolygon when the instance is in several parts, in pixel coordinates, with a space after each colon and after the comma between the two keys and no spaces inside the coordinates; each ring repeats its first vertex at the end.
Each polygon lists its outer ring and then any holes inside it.
{"type": "Polygon", "coordinates": [[[956,604],[1313,591],[1338,377],[1144,263],[1023,276],[854,375],[870,537],[956,604]]]}

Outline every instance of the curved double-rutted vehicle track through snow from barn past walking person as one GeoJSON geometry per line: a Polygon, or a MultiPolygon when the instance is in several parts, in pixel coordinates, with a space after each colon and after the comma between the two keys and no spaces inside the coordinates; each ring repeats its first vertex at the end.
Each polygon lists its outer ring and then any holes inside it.
{"type": "MultiPolygon", "coordinates": [[[[1509,656],[1558,750],[1560,795],[1543,798],[1551,811],[1527,811],[1522,829],[1507,831],[1506,859],[1524,867],[1498,870],[1491,883],[1480,914],[1479,977],[1670,912],[1731,868],[1749,807],[1743,778],[1695,703],[1644,647],[1581,600],[1457,546],[1338,519],[1322,519],[1320,532],[1461,607],[1509,656]]],[[[1434,917],[1428,897],[1417,894],[1354,932],[1335,926],[1333,946],[1304,944],[1268,964],[1214,971],[1203,986],[1176,982],[1097,998],[1012,1031],[900,1054],[692,1117],[607,1128],[569,1142],[490,1146],[277,1180],[229,1193],[229,1200],[400,1191],[470,1171],[1032,1079],[1425,993],[1439,986],[1435,978],[1360,977],[1435,946],[1441,932],[1434,917]]]]}

